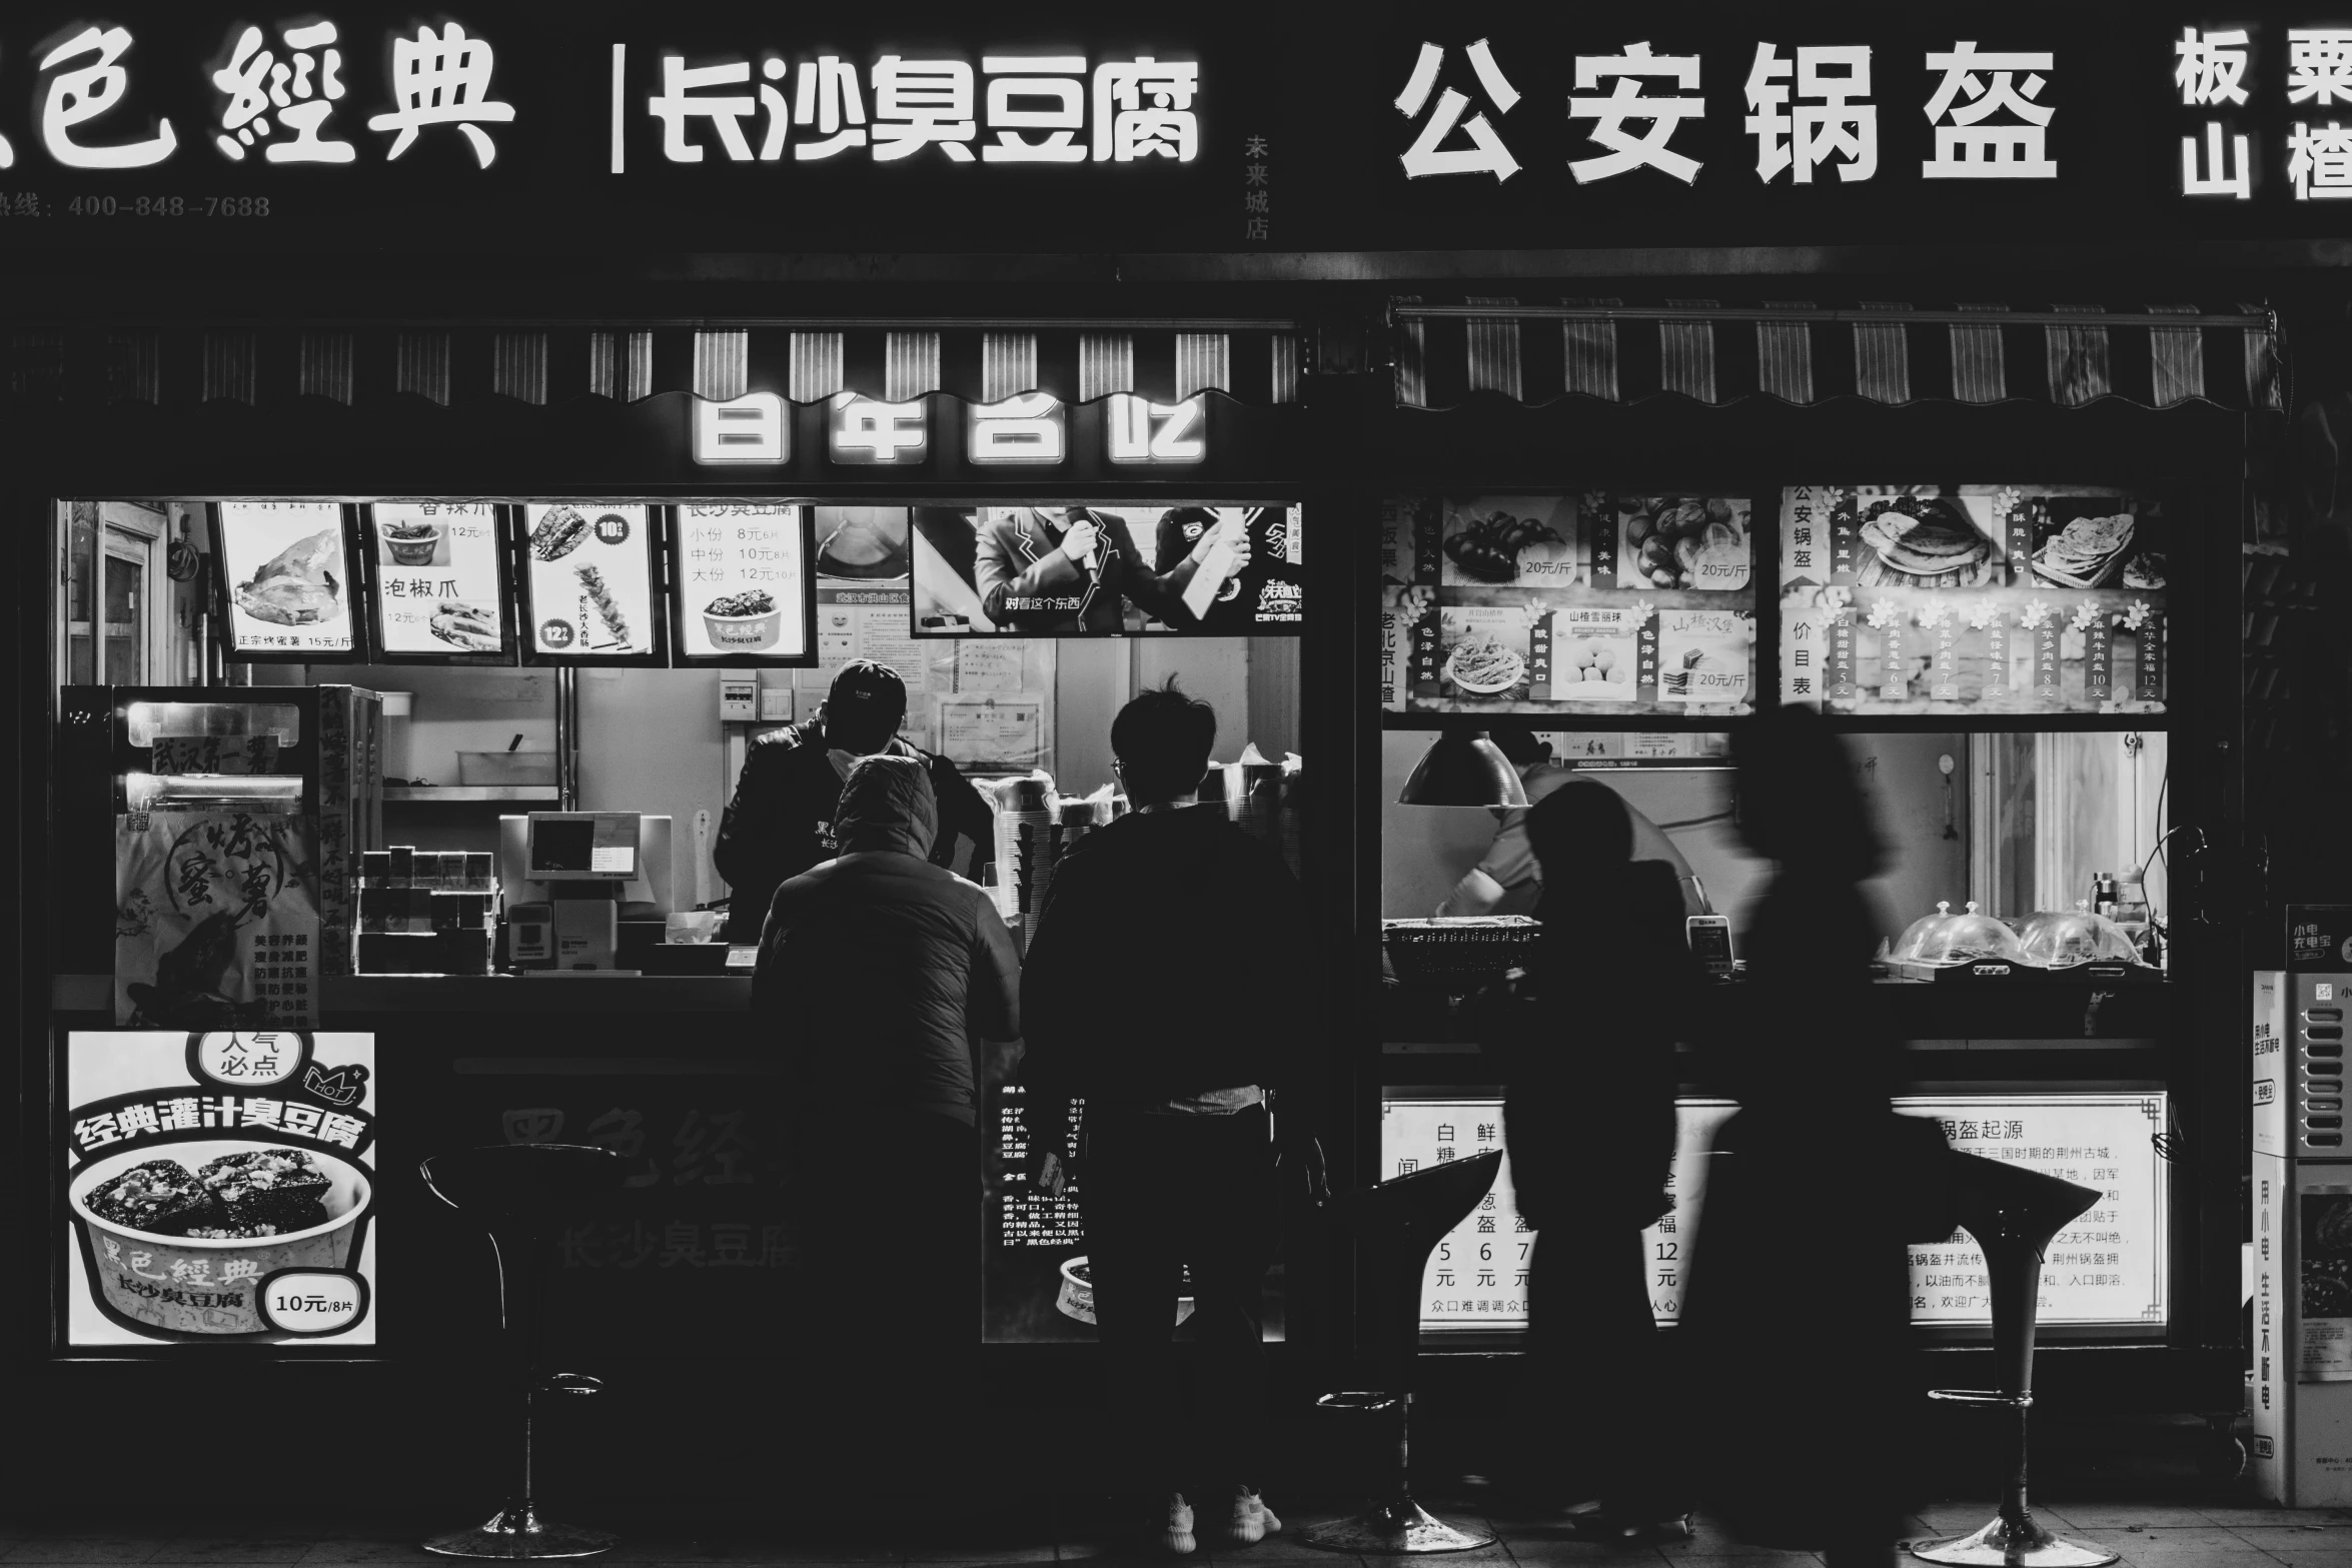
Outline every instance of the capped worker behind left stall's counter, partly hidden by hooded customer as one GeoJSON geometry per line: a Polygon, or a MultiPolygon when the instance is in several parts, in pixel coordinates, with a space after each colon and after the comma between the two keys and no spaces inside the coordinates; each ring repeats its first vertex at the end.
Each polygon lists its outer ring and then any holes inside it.
{"type": "Polygon", "coordinates": [[[811,722],[786,724],[750,743],[734,799],[720,818],[720,842],[710,851],[710,863],[731,891],[729,943],[757,943],[776,889],[840,853],[833,813],[858,757],[913,757],[924,764],[938,802],[931,865],[953,870],[957,839],[971,839],[978,858],[988,858],[995,842],[988,802],[953,762],[901,741],[903,719],[906,682],[898,672],[873,658],[851,658],[833,677],[833,691],[811,722]]]}

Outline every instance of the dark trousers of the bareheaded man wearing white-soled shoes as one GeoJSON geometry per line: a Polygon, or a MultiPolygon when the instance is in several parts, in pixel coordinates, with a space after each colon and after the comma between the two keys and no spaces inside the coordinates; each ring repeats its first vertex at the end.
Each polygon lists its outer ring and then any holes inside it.
{"type": "MultiPolygon", "coordinates": [[[[1103,1342],[1115,1483],[1138,1497],[1216,1502],[1258,1486],[1265,1347],[1261,1300],[1275,1253],[1268,1117],[1087,1112],[1080,1204],[1103,1342]],[[1190,1401],[1176,1338],[1192,1269],[1190,1401]]],[[[1207,1516],[1204,1516],[1207,1526],[1207,1516]]]]}

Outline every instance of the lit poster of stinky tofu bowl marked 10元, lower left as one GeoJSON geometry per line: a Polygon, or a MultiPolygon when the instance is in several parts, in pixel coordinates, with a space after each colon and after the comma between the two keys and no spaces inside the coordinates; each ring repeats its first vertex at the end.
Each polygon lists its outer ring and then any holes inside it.
{"type": "Polygon", "coordinates": [[[66,1349],[376,1342],[374,1037],[66,1037],[66,1349]]]}

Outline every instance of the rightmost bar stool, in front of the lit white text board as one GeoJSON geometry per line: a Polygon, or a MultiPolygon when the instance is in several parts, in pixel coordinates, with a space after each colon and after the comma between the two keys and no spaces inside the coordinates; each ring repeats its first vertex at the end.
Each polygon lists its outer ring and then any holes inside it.
{"type": "Polygon", "coordinates": [[[2063,1540],[2034,1523],[2025,1507],[2025,1422],[2034,1403],[2034,1307],[2042,1295],[2042,1255],[2051,1237],[2098,1201],[2093,1187],[2027,1171],[2025,1166],[1952,1154],[1959,1225],[1985,1253],[1992,1279],[1994,1392],[1936,1389],[1933,1399],[1992,1406],[2011,1415],[2009,1479],[2002,1512],[1983,1530],[1912,1547],[1912,1556],[1952,1568],[2103,1568],[2114,1552],[2063,1540]]]}

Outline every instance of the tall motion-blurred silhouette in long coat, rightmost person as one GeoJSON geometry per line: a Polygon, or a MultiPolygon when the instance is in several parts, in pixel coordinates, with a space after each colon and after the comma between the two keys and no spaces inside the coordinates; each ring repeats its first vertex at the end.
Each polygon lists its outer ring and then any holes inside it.
{"type": "Polygon", "coordinates": [[[1773,860],[1748,929],[1752,1020],[1722,1041],[1740,1112],[1708,1171],[1684,1295],[1700,1500],[1755,1544],[1889,1568],[1912,1502],[1905,1429],[1922,1392],[1907,1241],[1957,1225],[1933,1121],[1893,1112],[1893,1041],[1872,1018],[1886,860],[1844,745],[1809,708],[1731,733],[1738,827],[1773,860]]]}

